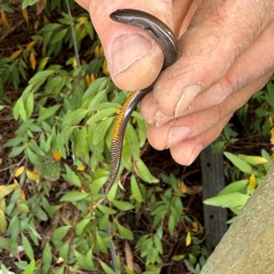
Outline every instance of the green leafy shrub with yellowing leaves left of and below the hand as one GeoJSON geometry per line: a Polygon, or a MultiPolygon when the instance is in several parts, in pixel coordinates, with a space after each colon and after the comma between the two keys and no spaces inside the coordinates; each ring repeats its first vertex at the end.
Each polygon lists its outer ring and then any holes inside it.
{"type": "MultiPolygon", "coordinates": [[[[14,256],[16,273],[29,274],[137,273],[132,249],[144,273],[160,273],[166,262],[184,264],[183,258],[200,268],[206,258],[199,247],[201,225],[184,213],[178,180],[155,178],[140,159],[146,124],[138,110],[125,133],[119,174],[127,170],[127,176],[114,184],[108,200],[103,195],[114,120],[127,93],[108,77],[88,14],[69,16],[55,0],[45,6],[27,0],[0,4],[2,14],[18,12],[21,4],[27,24],[35,5],[49,22],[0,59],[0,111],[16,121],[12,137],[0,135],[6,154],[1,172],[10,178],[0,185],[0,253],[14,256]],[[7,87],[16,95],[5,92],[7,87]],[[150,224],[140,235],[142,215],[150,224]],[[187,245],[188,252],[171,254],[169,242],[187,245]]],[[[2,16],[7,27],[8,18],[2,16]]],[[[0,258],[1,269],[5,264],[0,258]]]]}

